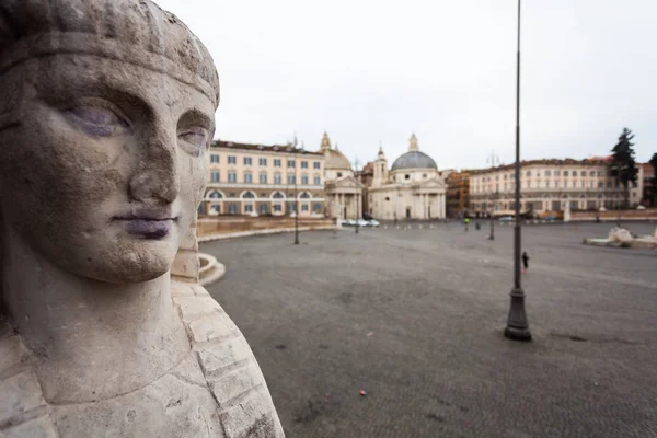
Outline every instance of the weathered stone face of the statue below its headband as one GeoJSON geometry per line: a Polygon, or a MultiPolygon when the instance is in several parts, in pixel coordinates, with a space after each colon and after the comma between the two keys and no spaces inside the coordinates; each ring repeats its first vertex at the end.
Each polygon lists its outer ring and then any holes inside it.
{"type": "Polygon", "coordinates": [[[87,55],[27,61],[0,131],[5,221],[50,263],[136,283],[165,274],[206,182],[212,102],[194,87],[87,55]]]}

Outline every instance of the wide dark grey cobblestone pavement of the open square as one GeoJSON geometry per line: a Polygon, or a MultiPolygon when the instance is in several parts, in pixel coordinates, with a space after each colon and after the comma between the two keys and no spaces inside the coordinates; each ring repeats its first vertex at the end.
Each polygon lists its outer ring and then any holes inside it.
{"type": "Polygon", "coordinates": [[[289,438],[657,437],[657,252],[581,244],[611,224],[523,228],[516,343],[511,227],[483,223],[201,245],[289,438]]]}

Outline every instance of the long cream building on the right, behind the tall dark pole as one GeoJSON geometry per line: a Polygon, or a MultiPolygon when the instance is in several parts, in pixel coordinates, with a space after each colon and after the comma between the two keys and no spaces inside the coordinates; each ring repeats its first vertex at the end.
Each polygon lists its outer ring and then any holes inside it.
{"type": "MultiPolygon", "coordinates": [[[[515,165],[479,170],[470,176],[470,209],[476,216],[515,212],[515,165]]],[[[643,172],[630,187],[630,206],[638,205],[643,172]]],[[[609,173],[604,160],[523,161],[520,172],[523,214],[550,215],[570,210],[620,208],[624,188],[609,173]]]]}

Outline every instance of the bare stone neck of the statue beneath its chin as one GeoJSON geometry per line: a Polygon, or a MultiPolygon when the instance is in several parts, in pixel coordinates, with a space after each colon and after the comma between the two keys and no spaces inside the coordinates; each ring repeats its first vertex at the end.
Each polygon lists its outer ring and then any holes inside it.
{"type": "Polygon", "coordinates": [[[170,275],[116,285],[60,269],[12,229],[2,296],[50,403],[105,400],[148,385],[189,351],[170,275]]]}

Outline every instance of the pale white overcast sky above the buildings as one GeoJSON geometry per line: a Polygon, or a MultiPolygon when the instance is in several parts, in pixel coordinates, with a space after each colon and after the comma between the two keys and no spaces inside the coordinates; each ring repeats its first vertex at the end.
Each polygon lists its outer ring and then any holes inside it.
{"type": "MultiPolygon", "coordinates": [[[[155,0],[219,70],[216,137],[390,162],[415,132],[439,169],[515,157],[515,0],[155,0]]],[[[526,0],[522,159],[657,152],[657,2],[526,0]]]]}

